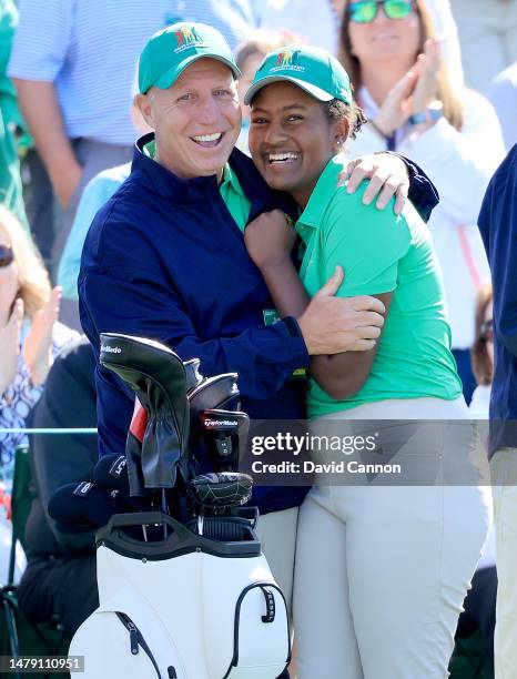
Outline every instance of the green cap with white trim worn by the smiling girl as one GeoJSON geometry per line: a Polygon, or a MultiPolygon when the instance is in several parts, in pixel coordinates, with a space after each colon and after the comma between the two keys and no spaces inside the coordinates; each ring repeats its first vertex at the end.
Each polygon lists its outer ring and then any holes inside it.
{"type": "Polygon", "coordinates": [[[267,54],[244,95],[244,103],[250,104],[266,84],[285,80],[320,101],[353,102],[351,80],[335,57],[318,48],[290,44],[267,54]]]}

